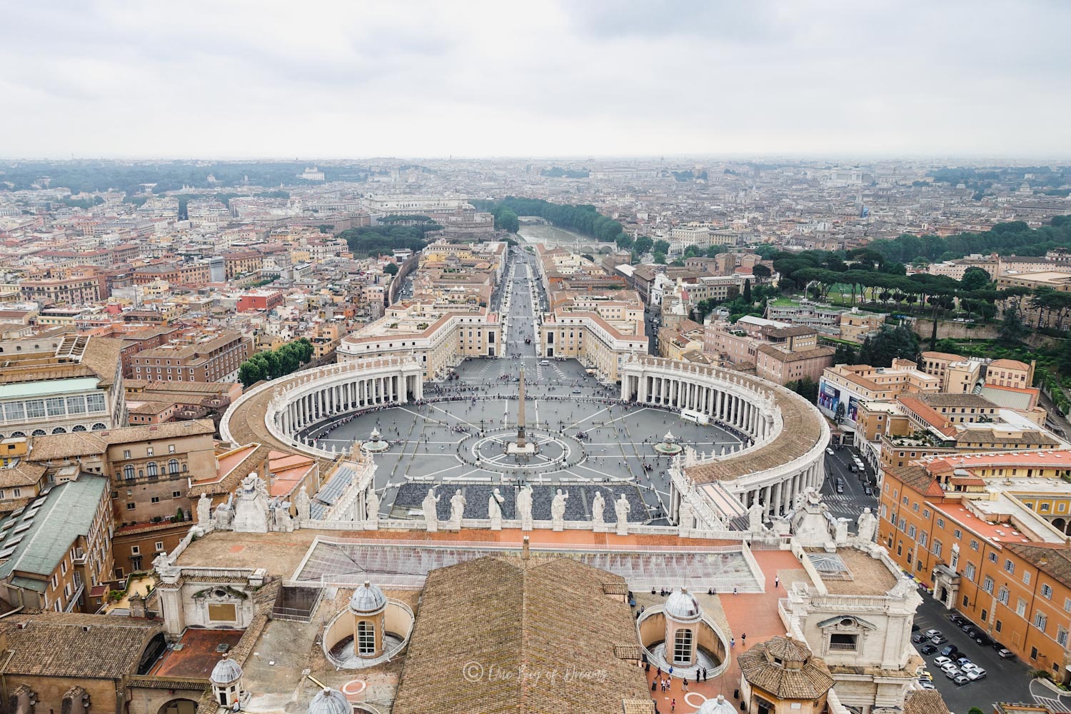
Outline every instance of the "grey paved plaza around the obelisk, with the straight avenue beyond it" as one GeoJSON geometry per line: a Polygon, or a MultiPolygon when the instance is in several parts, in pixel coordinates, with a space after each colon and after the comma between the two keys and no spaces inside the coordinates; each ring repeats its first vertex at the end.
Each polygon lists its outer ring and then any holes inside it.
{"type": "Polygon", "coordinates": [[[508,316],[501,356],[469,359],[452,379],[426,383],[422,404],[342,415],[299,437],[341,452],[379,431],[390,449],[375,455],[376,488],[381,513],[391,518],[422,518],[421,501],[433,486],[440,519],[449,517],[457,489],[467,501],[465,517],[486,518],[494,488],[506,499],[503,516],[513,518],[515,497],[529,484],[537,519],[549,519],[550,500],[561,488],[570,496],[567,519],[589,518],[601,490],[607,520],[615,520],[612,503],[624,495],[631,522],[665,523],[669,457],[654,445],[672,432],[699,454],[721,453],[739,447],[742,435],[699,426],[668,410],[620,405],[620,388],[599,383],[576,360],[538,356],[534,316],[541,292],[531,257],[514,250],[495,295],[508,316]],[[527,438],[538,445],[530,456],[507,453],[516,440],[522,368],[527,438]]]}

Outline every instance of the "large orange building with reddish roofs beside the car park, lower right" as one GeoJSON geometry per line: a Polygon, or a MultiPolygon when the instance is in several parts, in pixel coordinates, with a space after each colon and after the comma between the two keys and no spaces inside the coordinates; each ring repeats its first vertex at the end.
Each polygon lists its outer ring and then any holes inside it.
{"type": "Polygon", "coordinates": [[[1030,667],[1071,681],[1071,452],[929,457],[888,470],[878,542],[1030,667]]]}

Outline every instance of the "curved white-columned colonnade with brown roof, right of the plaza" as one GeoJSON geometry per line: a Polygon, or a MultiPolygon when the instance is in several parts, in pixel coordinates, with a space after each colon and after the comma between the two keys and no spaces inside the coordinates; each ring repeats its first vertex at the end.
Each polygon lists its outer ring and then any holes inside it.
{"type": "Polygon", "coordinates": [[[621,398],[653,407],[689,410],[748,434],[746,449],[704,458],[684,457],[670,468],[669,515],[693,522],[683,529],[721,529],[759,503],[765,518],[791,510],[808,487],[825,477],[829,426],[817,408],[773,382],[738,371],[662,358],[637,356],[622,370],[621,398]],[[691,514],[691,515],[689,515],[691,514]]]}

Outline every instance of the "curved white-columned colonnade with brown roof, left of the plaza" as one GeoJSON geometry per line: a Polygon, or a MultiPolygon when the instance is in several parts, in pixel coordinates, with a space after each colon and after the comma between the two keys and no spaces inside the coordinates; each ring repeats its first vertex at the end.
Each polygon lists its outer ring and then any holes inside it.
{"type": "Polygon", "coordinates": [[[334,458],[297,435],[325,420],[376,407],[396,407],[424,397],[423,368],[416,360],[378,358],[314,367],[266,382],[243,394],[220,422],[220,436],[233,443],[256,441],[334,458]]]}

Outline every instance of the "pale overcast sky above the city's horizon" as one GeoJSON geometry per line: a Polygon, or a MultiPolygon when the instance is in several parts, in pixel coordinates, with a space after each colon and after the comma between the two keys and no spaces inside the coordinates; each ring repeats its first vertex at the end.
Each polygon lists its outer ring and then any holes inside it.
{"type": "Polygon", "coordinates": [[[1071,2],[0,0],[0,156],[1071,156],[1071,2]]]}

